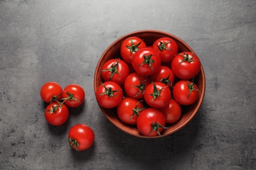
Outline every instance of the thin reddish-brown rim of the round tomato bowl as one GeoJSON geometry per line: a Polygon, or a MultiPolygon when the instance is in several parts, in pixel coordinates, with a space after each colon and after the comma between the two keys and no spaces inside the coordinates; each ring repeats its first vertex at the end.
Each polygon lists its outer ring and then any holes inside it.
{"type": "MultiPolygon", "coordinates": [[[[102,53],[102,55],[100,56],[100,59],[98,60],[98,63],[96,65],[95,68],[95,75],[94,75],[94,90],[96,93],[96,89],[98,88],[98,86],[96,86],[96,77],[97,77],[97,73],[96,71],[99,70],[100,68],[100,63],[102,62],[102,60],[104,58],[102,58],[102,56],[106,56],[106,53],[108,52],[108,50],[110,50],[113,46],[115,46],[117,43],[119,43],[119,41],[121,41],[122,39],[127,39],[129,37],[132,37],[133,35],[138,35],[140,33],[157,33],[157,34],[161,34],[161,35],[166,35],[167,37],[172,37],[173,39],[176,39],[177,41],[181,42],[182,45],[184,45],[190,52],[196,54],[194,52],[194,50],[188,46],[188,44],[186,44],[186,42],[184,42],[182,39],[180,39],[179,37],[171,34],[171,33],[167,33],[165,31],[160,31],[160,30],[156,30],[156,29],[141,29],[139,31],[133,31],[131,33],[127,33],[121,37],[119,37],[118,39],[116,39],[116,41],[112,42],[108,48],[106,48],[106,50],[104,50],[104,52],[102,53]]],[[[154,137],[148,137],[148,136],[144,136],[138,133],[133,133],[132,131],[129,131],[128,129],[125,129],[123,127],[121,127],[121,125],[116,124],[116,121],[112,118],[110,118],[110,116],[108,116],[108,114],[106,114],[106,112],[104,111],[104,108],[101,107],[100,105],[98,105],[100,107],[100,110],[102,111],[102,113],[104,114],[104,116],[112,123],[114,124],[114,126],[116,126],[118,129],[121,129],[122,131],[124,131],[125,133],[129,133],[130,135],[136,136],[136,137],[141,137],[141,138],[158,138],[158,137],[165,137],[167,135],[171,135],[173,133],[175,133],[176,131],[179,131],[180,129],[182,129],[184,126],[186,126],[188,124],[188,122],[190,122],[192,120],[192,118],[194,118],[194,116],[197,114],[198,110],[200,109],[202,102],[203,102],[203,98],[204,98],[204,94],[205,94],[205,73],[203,71],[203,66],[201,64],[201,69],[200,69],[200,74],[202,75],[202,90],[200,91],[200,96],[198,99],[198,105],[196,105],[196,107],[194,108],[194,110],[192,111],[192,114],[186,119],[184,120],[184,122],[178,126],[177,128],[171,130],[171,131],[167,131],[167,133],[163,133],[154,137]]],[[[96,96],[95,96],[96,97],[96,96]]]]}

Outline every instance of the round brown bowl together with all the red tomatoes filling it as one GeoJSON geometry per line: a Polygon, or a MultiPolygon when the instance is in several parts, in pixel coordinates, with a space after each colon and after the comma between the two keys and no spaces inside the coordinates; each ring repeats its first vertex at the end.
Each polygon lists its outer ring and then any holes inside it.
{"type": "Polygon", "coordinates": [[[142,30],[105,50],[94,85],[100,109],[115,126],[137,137],[163,137],[194,117],[205,77],[200,59],[184,41],[142,30]]]}

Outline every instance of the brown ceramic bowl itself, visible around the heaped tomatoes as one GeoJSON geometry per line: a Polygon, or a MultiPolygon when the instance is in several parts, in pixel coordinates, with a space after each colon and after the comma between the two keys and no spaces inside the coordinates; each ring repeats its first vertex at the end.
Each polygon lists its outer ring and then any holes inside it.
{"type": "MultiPolygon", "coordinates": [[[[120,56],[121,42],[123,42],[128,37],[132,37],[132,36],[139,37],[140,39],[143,39],[144,42],[146,42],[146,44],[148,46],[152,45],[152,43],[154,41],[156,41],[157,39],[159,39],[160,37],[171,37],[172,39],[174,39],[177,42],[177,44],[179,46],[179,52],[184,52],[184,51],[194,52],[192,50],[192,48],[190,48],[190,46],[188,46],[188,44],[186,44],[186,42],[182,41],[175,35],[171,35],[170,33],[166,33],[163,31],[157,31],[157,30],[141,30],[141,31],[135,31],[132,33],[128,33],[127,35],[120,37],[119,39],[114,41],[112,44],[110,44],[110,46],[108,46],[108,48],[104,51],[104,53],[100,57],[98,64],[96,65],[96,69],[95,69],[95,77],[94,77],[95,92],[96,92],[96,88],[98,88],[98,86],[100,85],[100,82],[104,82],[104,80],[101,77],[101,73],[100,73],[100,69],[101,69],[102,65],[109,59],[121,58],[121,56],[120,56]]],[[[198,100],[194,104],[192,104],[188,107],[182,107],[182,116],[181,116],[180,120],[175,124],[167,124],[166,126],[168,128],[163,129],[163,131],[161,132],[161,136],[158,135],[156,137],[164,137],[164,136],[170,135],[172,133],[175,133],[182,127],[186,126],[186,124],[188,124],[188,122],[190,122],[190,120],[192,120],[192,118],[196,115],[196,113],[200,109],[200,106],[203,101],[203,95],[205,93],[205,74],[203,72],[202,66],[201,66],[200,73],[194,78],[194,82],[198,86],[199,91],[200,91],[198,100]]],[[[110,120],[110,122],[112,122],[112,124],[114,124],[116,127],[121,129],[122,131],[125,131],[126,133],[129,133],[130,135],[134,135],[137,137],[156,138],[156,137],[144,136],[144,135],[140,134],[140,132],[138,131],[136,126],[129,126],[129,125],[121,122],[119,120],[119,118],[117,117],[116,109],[105,109],[101,106],[99,106],[99,107],[102,110],[103,114],[106,116],[106,118],[108,118],[108,120],[110,120]]]]}

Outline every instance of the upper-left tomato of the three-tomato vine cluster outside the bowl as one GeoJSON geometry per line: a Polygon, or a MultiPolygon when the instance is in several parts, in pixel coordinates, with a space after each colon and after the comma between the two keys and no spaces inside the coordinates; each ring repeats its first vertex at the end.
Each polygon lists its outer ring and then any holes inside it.
{"type": "Polygon", "coordinates": [[[41,87],[40,95],[46,103],[60,100],[62,98],[62,87],[56,82],[47,82],[41,87]]]}

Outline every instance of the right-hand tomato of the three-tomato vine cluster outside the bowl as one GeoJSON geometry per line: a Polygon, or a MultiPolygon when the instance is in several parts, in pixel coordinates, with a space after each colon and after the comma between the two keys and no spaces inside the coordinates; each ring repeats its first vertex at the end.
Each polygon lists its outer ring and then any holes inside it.
{"type": "Polygon", "coordinates": [[[68,107],[79,107],[85,100],[85,91],[78,84],[69,84],[63,90],[62,99],[68,107]]]}

